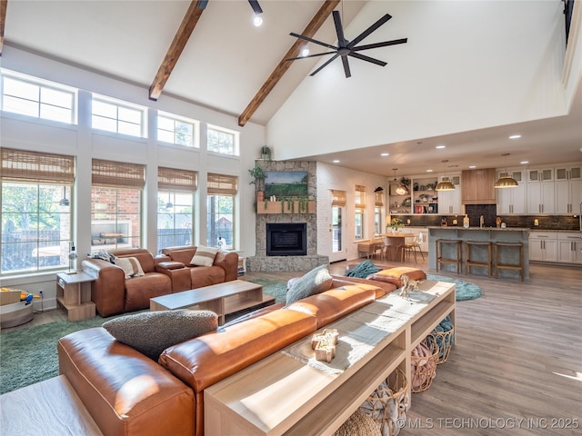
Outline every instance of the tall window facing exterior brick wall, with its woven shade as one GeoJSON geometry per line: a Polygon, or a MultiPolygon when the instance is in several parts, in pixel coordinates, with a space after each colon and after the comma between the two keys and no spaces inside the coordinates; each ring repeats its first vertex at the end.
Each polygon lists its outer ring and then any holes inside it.
{"type": "Polygon", "coordinates": [[[91,253],[142,246],[145,167],[94,159],[91,187],[91,253]]]}

